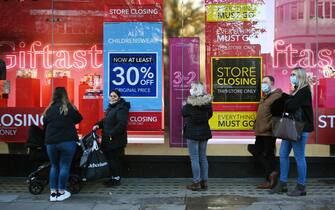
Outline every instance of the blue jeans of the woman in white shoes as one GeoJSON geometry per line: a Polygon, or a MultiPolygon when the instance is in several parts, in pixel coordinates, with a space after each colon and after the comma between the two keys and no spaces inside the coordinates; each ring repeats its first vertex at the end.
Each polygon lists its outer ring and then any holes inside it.
{"type": "Polygon", "coordinates": [[[50,159],[50,190],[65,190],[69,179],[71,163],[77,144],[66,141],[59,144],[47,144],[50,159]]]}

